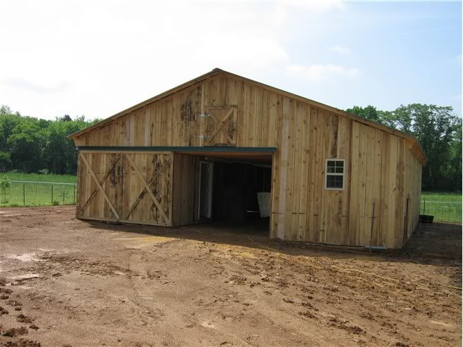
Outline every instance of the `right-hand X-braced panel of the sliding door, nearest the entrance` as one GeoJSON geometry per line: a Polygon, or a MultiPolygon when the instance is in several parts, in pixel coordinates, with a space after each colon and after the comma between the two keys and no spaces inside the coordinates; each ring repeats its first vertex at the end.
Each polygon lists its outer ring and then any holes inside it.
{"type": "Polygon", "coordinates": [[[125,153],[121,221],[172,225],[172,154],[125,153]]]}

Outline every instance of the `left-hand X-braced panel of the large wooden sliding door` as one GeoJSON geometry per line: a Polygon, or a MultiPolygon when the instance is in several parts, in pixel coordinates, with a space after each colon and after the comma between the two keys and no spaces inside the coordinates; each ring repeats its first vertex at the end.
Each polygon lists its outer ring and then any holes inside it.
{"type": "Polygon", "coordinates": [[[122,154],[79,152],[77,218],[121,218],[122,154]]]}

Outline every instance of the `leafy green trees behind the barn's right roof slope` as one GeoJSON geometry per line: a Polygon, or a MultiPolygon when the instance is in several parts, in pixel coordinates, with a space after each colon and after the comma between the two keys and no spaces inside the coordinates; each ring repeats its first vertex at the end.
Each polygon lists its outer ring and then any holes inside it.
{"type": "Polygon", "coordinates": [[[400,105],[394,111],[354,106],[347,112],[407,132],[420,143],[428,164],[423,167],[424,189],[462,189],[462,118],[452,107],[400,105]]]}

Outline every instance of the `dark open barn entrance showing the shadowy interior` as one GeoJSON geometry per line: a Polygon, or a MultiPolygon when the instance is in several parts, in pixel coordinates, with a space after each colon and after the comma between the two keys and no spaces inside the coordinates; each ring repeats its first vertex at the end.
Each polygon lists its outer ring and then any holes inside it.
{"type": "Polygon", "coordinates": [[[245,233],[269,232],[271,158],[207,158],[200,163],[199,222],[245,233]]]}

